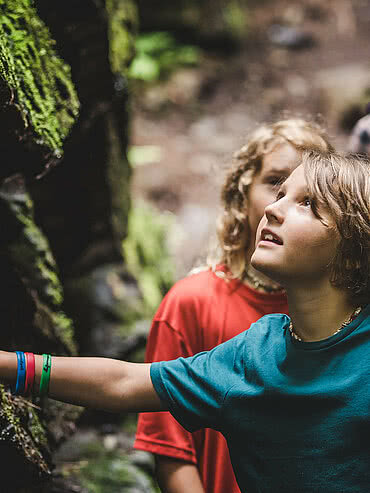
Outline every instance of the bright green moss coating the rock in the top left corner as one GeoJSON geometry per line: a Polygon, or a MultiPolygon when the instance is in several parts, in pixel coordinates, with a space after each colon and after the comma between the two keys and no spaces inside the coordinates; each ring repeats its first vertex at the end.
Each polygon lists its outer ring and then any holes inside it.
{"type": "Polygon", "coordinates": [[[36,142],[60,157],[79,109],[70,68],[55,51],[32,0],[0,0],[0,77],[36,142]]]}

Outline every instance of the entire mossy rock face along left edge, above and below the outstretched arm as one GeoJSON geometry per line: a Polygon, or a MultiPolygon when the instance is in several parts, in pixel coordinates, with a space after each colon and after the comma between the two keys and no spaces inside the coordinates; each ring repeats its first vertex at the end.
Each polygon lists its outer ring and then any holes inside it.
{"type": "MultiPolygon", "coordinates": [[[[1,347],[73,354],[57,266],[24,182],[61,160],[79,101],[69,67],[29,1],[0,2],[0,25],[1,347]]],[[[2,488],[22,491],[28,484],[32,491],[50,476],[52,449],[78,410],[58,406],[56,412],[52,402],[14,397],[3,386],[0,399],[2,488]]]]}

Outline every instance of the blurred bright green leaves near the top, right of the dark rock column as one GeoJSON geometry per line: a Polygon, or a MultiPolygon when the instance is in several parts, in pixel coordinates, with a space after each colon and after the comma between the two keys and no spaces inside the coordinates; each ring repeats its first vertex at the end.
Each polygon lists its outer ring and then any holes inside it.
{"type": "Polygon", "coordinates": [[[177,68],[197,65],[201,55],[199,48],[179,44],[165,31],[141,34],[136,39],[135,47],[136,57],[129,75],[146,82],[165,79],[177,68]]]}

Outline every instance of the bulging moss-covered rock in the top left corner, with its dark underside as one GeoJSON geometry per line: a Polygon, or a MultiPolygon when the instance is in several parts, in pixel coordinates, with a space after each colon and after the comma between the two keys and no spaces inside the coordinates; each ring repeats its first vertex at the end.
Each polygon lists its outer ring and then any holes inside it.
{"type": "Polygon", "coordinates": [[[34,176],[61,158],[79,102],[30,0],[1,0],[0,25],[0,176],[34,176]]]}

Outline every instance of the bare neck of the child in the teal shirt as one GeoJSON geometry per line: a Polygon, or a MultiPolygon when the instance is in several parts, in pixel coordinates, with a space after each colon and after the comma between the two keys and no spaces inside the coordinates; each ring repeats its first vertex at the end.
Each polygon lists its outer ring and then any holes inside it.
{"type": "Polygon", "coordinates": [[[307,285],[290,286],[287,295],[294,332],[307,342],[333,335],[356,308],[348,295],[329,281],[311,289],[307,285]]]}

